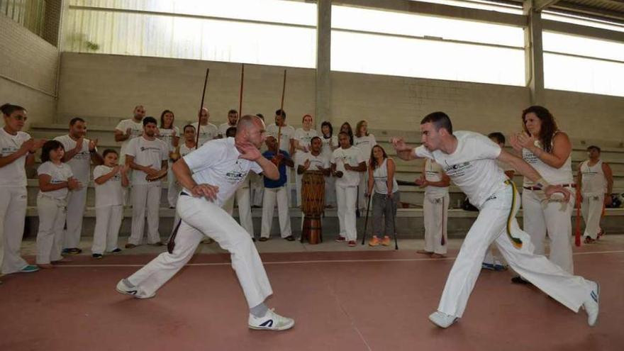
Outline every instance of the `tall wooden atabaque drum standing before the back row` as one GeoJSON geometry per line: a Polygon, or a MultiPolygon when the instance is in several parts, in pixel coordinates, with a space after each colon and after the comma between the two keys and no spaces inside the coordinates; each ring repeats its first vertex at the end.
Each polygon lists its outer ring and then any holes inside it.
{"type": "Polygon", "coordinates": [[[323,172],[308,171],[301,177],[301,211],[303,217],[303,233],[301,242],[318,244],[323,241],[321,214],[325,209],[325,176],[323,172]]]}

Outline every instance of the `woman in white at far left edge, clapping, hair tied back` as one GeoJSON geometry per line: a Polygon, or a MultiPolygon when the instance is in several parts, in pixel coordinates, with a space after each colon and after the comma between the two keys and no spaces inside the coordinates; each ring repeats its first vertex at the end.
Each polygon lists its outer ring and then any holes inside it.
{"type": "Polygon", "coordinates": [[[0,276],[15,272],[36,272],[20,255],[27,194],[25,165],[35,163],[35,151],[45,140],[34,140],[22,130],[26,123],[26,108],[4,104],[0,106],[4,128],[0,130],[0,276]]]}

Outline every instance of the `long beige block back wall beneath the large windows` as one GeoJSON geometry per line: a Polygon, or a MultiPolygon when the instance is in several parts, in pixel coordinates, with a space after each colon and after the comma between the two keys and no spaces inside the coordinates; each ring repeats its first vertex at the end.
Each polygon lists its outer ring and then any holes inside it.
{"type": "MultiPolygon", "coordinates": [[[[240,65],[223,62],[152,57],[76,54],[62,55],[60,118],[67,116],[130,116],[135,104],[160,116],[172,109],[179,119],[194,119],[201,98],[204,69],[211,68],[207,106],[213,121],[225,121],[229,108],[238,108],[240,65]]],[[[279,106],[282,67],[245,66],[243,112],[272,117],[279,106]]],[[[426,113],[445,111],[455,129],[489,133],[520,130],[520,113],[529,105],[525,87],[450,82],[435,79],[389,77],[332,72],[333,116],[318,116],[340,124],[367,119],[369,127],[416,130],[426,113]]],[[[313,69],[288,69],[285,109],[289,123],[301,125],[304,113],[313,113],[313,69]]],[[[575,139],[623,140],[624,98],[546,91],[547,107],[560,126],[575,139]],[[596,121],[591,123],[587,121],[596,121]]]]}

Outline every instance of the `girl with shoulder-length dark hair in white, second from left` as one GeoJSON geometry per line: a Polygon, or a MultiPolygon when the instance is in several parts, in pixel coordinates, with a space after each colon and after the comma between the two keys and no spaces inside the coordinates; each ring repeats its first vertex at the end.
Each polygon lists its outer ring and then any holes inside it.
{"type": "Polygon", "coordinates": [[[80,190],[81,184],[72,173],[72,167],[63,163],[65,148],[57,140],[49,140],[41,150],[42,164],[37,169],[39,194],[37,213],[37,264],[41,268],[53,268],[52,262],[63,260],[61,256],[63,226],[67,216],[69,191],[80,190]]]}

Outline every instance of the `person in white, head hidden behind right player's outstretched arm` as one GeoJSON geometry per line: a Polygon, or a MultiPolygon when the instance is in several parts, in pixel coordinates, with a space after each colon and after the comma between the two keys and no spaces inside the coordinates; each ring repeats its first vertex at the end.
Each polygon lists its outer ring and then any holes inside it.
{"type": "Polygon", "coordinates": [[[425,188],[423,220],[425,222],[425,249],[416,252],[431,255],[431,258],[445,257],[447,252],[447,221],[450,178],[440,165],[425,159],[425,167],[416,184],[425,188]]]}

